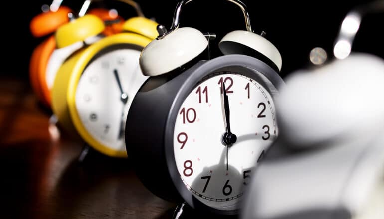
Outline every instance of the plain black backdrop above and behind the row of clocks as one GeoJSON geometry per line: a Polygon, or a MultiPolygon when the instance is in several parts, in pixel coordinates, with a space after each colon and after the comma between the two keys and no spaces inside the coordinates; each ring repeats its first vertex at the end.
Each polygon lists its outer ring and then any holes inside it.
{"type": "MultiPolygon", "coordinates": [[[[242,0],[248,8],[252,28],[256,33],[266,32],[266,38],[280,51],[283,59],[281,76],[309,64],[309,52],[314,47],[323,47],[328,55],[341,21],[354,6],[369,2],[355,1],[277,1],[242,0]]],[[[177,0],[137,0],[146,17],[155,18],[167,28],[171,26],[177,0]]],[[[41,5],[51,0],[6,1],[1,13],[2,20],[2,75],[11,75],[23,80],[28,78],[29,58],[42,38],[34,38],[29,31],[29,22],[41,13],[41,5]]],[[[78,11],[82,0],[63,0],[62,5],[78,11]]],[[[104,0],[91,7],[118,8],[124,18],[136,16],[128,5],[104,0]]],[[[369,15],[363,21],[353,45],[354,51],[383,56],[383,15],[369,15]]],[[[221,55],[217,44],[232,30],[245,29],[241,10],[224,0],[196,0],[183,8],[181,26],[190,26],[202,32],[214,32],[217,39],[211,42],[211,54],[221,55]]]]}

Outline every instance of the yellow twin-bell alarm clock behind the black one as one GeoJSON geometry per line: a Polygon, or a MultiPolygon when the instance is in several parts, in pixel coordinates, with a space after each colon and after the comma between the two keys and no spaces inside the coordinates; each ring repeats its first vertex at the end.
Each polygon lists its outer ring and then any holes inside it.
{"type": "MultiPolygon", "coordinates": [[[[69,25],[56,32],[59,46],[74,43],[68,42],[69,25]]],[[[156,38],[156,26],[148,18],[132,17],[124,22],[121,33],[104,37],[64,61],[52,87],[52,111],[63,130],[80,135],[90,148],[107,156],[127,157],[125,120],[133,97],[147,79],[139,56],[156,38]]]]}

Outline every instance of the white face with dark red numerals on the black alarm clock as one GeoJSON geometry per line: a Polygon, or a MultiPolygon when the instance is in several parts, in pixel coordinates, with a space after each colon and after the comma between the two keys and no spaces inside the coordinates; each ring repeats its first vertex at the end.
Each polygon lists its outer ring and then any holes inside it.
{"type": "Polygon", "coordinates": [[[182,181],[202,203],[219,210],[236,210],[252,168],[277,137],[271,95],[255,80],[234,72],[205,78],[188,95],[175,123],[174,154],[182,181]],[[233,144],[226,133],[224,82],[233,144]]]}

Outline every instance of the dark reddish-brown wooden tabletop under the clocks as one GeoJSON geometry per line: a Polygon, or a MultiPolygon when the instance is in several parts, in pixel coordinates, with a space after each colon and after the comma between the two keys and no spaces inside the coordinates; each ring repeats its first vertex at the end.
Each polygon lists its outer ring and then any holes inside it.
{"type": "Polygon", "coordinates": [[[0,79],[0,218],[172,218],[176,204],[150,193],[128,159],[91,151],[79,162],[83,142],[50,124],[28,81],[0,79]]]}

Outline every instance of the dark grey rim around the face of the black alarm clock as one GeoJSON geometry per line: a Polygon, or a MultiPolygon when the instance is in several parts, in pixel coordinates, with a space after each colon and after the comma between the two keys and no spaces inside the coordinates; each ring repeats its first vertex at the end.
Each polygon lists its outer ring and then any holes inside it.
{"type": "Polygon", "coordinates": [[[179,109],[183,104],[184,100],[203,78],[207,77],[208,75],[214,72],[231,71],[238,73],[239,70],[241,70],[241,74],[256,80],[265,89],[267,89],[267,91],[271,94],[273,100],[275,100],[279,96],[278,89],[285,85],[283,79],[273,68],[271,68],[264,62],[250,56],[238,54],[224,55],[206,61],[201,66],[196,68],[193,73],[190,74],[188,78],[184,81],[184,83],[180,86],[180,89],[178,90],[171,105],[170,111],[168,113],[168,118],[164,129],[165,158],[169,175],[176,189],[178,190],[182,198],[192,208],[201,209],[203,211],[214,214],[234,215],[238,214],[239,210],[225,211],[209,207],[201,203],[198,199],[196,199],[192,195],[191,191],[186,188],[177,170],[175,162],[175,154],[173,147],[175,123],[179,113],[179,109]]]}

